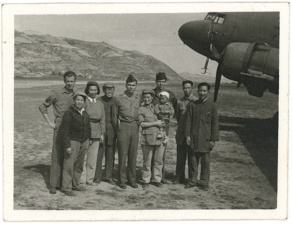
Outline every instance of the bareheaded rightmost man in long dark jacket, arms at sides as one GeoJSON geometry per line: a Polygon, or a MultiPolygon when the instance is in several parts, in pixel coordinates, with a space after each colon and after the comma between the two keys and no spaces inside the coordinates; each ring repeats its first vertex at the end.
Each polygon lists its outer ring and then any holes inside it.
{"type": "Polygon", "coordinates": [[[192,101],[186,111],[185,132],[188,151],[189,177],[184,188],[197,185],[198,165],[201,158],[200,186],[202,190],[209,190],[210,180],[210,152],[215,141],[219,140],[219,122],[216,105],[208,100],[210,85],[198,85],[199,100],[192,101]]]}

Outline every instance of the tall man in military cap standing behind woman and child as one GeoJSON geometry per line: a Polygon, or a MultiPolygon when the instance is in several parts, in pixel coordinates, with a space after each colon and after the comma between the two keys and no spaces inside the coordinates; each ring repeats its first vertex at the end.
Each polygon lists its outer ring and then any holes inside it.
{"type": "MultiPolygon", "coordinates": [[[[163,92],[163,91],[166,91],[169,94],[168,103],[172,104],[172,107],[175,109],[176,108],[176,104],[177,104],[177,98],[170,90],[164,89],[164,85],[166,85],[166,80],[167,80],[167,78],[166,78],[166,75],[165,75],[164,72],[159,72],[159,73],[156,74],[156,81],[155,82],[156,82],[157,87],[155,87],[153,89],[155,95],[154,95],[152,103],[153,103],[154,106],[156,104],[158,104],[159,103],[160,93],[163,92]]],[[[165,129],[166,136],[168,136],[169,123],[164,127],[164,129],[165,129]]],[[[164,155],[163,155],[163,169],[162,169],[162,180],[161,180],[162,184],[166,184],[167,183],[166,179],[164,178],[164,165],[165,165],[166,145],[167,144],[165,144],[165,150],[164,150],[164,155]]],[[[153,162],[151,164],[151,167],[153,167],[153,162]]]]}

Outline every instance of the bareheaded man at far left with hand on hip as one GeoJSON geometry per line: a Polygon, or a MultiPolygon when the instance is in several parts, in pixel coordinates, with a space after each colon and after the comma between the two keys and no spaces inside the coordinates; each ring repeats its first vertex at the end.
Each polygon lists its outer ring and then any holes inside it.
{"type": "Polygon", "coordinates": [[[54,129],[51,174],[50,174],[50,193],[55,194],[56,188],[61,187],[62,169],[64,159],[64,149],[62,138],[58,135],[59,126],[61,125],[64,113],[74,104],[73,87],[76,82],[76,74],[73,71],[64,73],[65,87],[55,90],[39,105],[39,111],[42,113],[49,126],[54,129]],[[48,116],[48,107],[53,104],[53,111],[55,115],[55,122],[52,122],[48,116]]]}

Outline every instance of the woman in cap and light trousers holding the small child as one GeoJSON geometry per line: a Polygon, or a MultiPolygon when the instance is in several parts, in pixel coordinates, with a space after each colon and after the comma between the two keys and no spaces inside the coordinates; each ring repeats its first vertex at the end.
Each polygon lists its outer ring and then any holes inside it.
{"type": "Polygon", "coordinates": [[[164,137],[157,138],[159,129],[165,124],[161,120],[157,120],[154,114],[154,105],[152,104],[154,91],[144,89],[142,91],[144,105],[139,108],[139,124],[142,127],[140,144],[143,151],[143,188],[148,188],[150,181],[158,188],[163,188],[160,183],[162,178],[163,154],[165,144],[164,137]],[[151,161],[154,160],[154,167],[151,171],[151,161]]]}

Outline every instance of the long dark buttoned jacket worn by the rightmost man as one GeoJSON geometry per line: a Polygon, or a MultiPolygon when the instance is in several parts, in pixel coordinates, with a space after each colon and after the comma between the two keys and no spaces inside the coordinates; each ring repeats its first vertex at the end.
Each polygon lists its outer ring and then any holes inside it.
{"type": "Polygon", "coordinates": [[[206,100],[191,101],[186,111],[185,137],[191,138],[191,149],[196,152],[210,152],[210,141],[219,140],[217,107],[206,100]]]}

